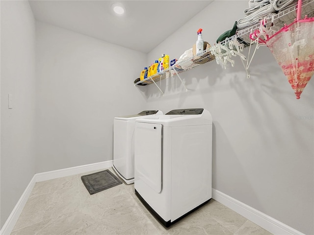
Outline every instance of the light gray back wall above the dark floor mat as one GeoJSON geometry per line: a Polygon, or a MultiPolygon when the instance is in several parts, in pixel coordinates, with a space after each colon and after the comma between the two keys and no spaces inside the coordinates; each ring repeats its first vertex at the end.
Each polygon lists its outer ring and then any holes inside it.
{"type": "Polygon", "coordinates": [[[36,173],[112,160],[113,118],[139,113],[146,54],[36,23],[36,173]]]}

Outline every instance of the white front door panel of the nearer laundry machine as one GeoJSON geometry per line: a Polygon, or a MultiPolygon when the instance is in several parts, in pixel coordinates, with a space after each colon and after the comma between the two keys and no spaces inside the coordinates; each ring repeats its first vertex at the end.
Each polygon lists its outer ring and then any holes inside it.
{"type": "Polygon", "coordinates": [[[161,124],[135,123],[134,164],[138,180],[161,191],[161,124]]]}

